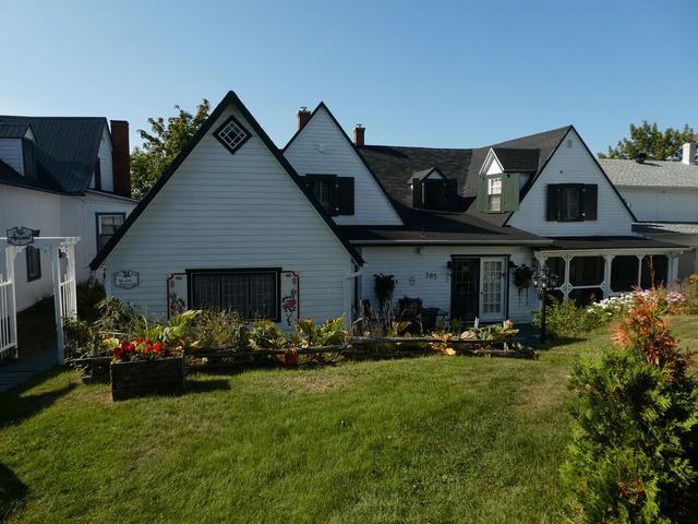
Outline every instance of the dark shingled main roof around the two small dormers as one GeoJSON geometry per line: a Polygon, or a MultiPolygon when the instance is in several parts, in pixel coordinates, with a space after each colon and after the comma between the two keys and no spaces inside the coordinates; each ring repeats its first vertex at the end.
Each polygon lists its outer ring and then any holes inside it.
{"type": "Polygon", "coordinates": [[[480,169],[490,147],[505,151],[504,155],[509,165],[524,166],[527,167],[526,170],[534,171],[521,192],[526,194],[547,159],[571,129],[571,126],[565,126],[472,150],[364,145],[359,147],[359,153],[376,175],[408,226],[412,226],[409,219],[413,218],[410,212],[414,211],[409,180],[416,171],[435,167],[446,178],[458,180],[458,195],[454,202],[454,211],[466,212],[466,215],[478,218],[480,223],[501,227],[504,226],[510,213],[478,213],[474,205],[480,169]],[[524,150],[528,152],[524,153],[524,150]]]}

